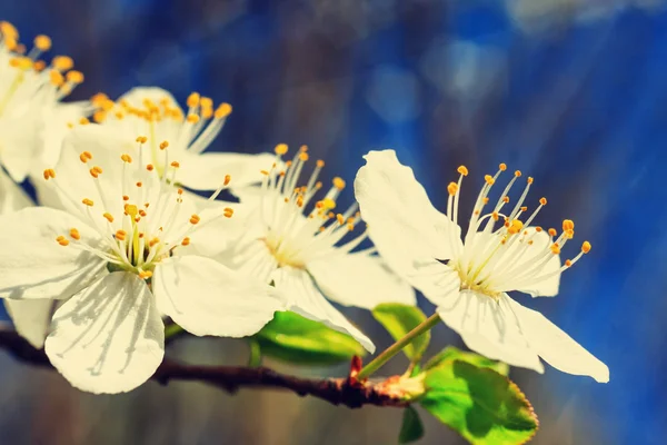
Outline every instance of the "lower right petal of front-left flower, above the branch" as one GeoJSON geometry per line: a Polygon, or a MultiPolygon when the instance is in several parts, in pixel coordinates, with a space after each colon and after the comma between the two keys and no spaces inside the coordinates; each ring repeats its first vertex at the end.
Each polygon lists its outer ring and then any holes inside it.
{"type": "Polygon", "coordinates": [[[252,335],[286,304],[268,284],[198,256],[159,263],[152,288],[159,309],[200,336],[252,335]]]}

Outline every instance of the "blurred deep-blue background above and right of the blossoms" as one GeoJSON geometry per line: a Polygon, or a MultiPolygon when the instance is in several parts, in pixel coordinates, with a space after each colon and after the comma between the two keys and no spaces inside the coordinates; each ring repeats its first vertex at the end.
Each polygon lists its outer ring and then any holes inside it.
{"type": "Polygon", "coordinates": [[[531,196],[550,202],[541,222],[559,227],[571,217],[577,239],[594,249],[565,274],[557,298],[519,300],[606,362],[611,382],[549,369],[519,374],[519,384],[549,388],[556,405],[575,400],[575,422],[594,423],[608,441],[663,443],[667,13],[627,9],[526,34],[501,6],[482,1],[360,2],[369,9],[349,11],[316,1],[79,3],[0,6],[0,19],[28,39],[48,33],[56,52],[72,55],[87,76],[74,98],[117,97],[138,85],[180,100],[197,90],[235,107],[213,149],[308,144],[331,177],[349,184],[369,149],[395,148],[440,206],[460,164],[471,171],[469,200],[498,162],[534,176],[531,196]],[[435,81],[424,60],[439,42],[465,42],[500,62],[482,56],[457,78],[468,61],[452,58],[435,81]],[[411,80],[378,87],[396,73],[411,80]],[[454,79],[472,87],[452,91],[454,79]],[[412,115],[408,83],[419,103],[412,115]],[[374,106],[374,88],[398,119],[374,106]]]}

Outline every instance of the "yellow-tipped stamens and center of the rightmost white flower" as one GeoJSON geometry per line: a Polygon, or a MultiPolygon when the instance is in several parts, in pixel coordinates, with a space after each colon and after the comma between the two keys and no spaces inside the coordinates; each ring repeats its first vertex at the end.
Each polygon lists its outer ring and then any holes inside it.
{"type": "MultiPolygon", "coordinates": [[[[495,176],[485,176],[485,185],[477,197],[462,246],[454,239],[454,231],[450,230],[454,254],[448,265],[458,273],[461,289],[475,290],[492,298],[497,298],[501,293],[530,288],[552,278],[590,250],[590,244],[585,241],[574,259],[560,265],[560,251],[575,236],[575,224],[565,219],[560,235],[554,228],[544,230],[539,226],[530,226],[541,208],[547,205],[547,199],[540,198],[536,209],[526,217],[528,207],[524,206],[524,201],[532,185],[532,178],[527,179],[517,202],[508,206],[509,191],[521,177],[519,170],[515,171],[492,208],[487,208],[489,192],[506,170],[507,166],[500,164],[495,176]],[[557,263],[555,267],[554,261],[557,263]]],[[[450,182],[447,187],[447,217],[454,224],[458,224],[459,192],[468,169],[461,166],[458,172],[458,182],[450,182]]]]}

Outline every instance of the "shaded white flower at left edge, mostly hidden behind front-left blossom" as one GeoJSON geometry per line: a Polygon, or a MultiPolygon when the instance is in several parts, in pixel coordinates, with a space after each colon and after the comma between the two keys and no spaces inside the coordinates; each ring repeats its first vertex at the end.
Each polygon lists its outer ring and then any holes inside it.
{"type": "MultiPolygon", "coordinates": [[[[32,205],[28,195],[0,168],[0,215],[32,205]]],[[[7,297],[8,294],[2,296],[7,297]]],[[[53,301],[50,299],[27,301],[9,298],[4,298],[3,301],[19,335],[30,342],[32,346],[41,348],[47,338],[53,301]]]]}

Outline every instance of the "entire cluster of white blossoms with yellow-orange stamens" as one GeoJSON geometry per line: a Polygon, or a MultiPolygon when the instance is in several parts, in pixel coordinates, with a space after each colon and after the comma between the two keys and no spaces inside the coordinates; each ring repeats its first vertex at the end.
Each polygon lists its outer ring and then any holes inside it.
{"type": "Polygon", "coordinates": [[[346,181],[325,185],[325,162],[306,146],[207,151],[228,103],[193,92],[181,108],[155,87],[62,102],[83,75],[69,57],[42,60],[50,47],[38,36],[27,51],[0,22],[0,297],[18,333],[76,387],[120,393],[150,378],[167,318],[197,336],[245,337],[290,310],[372,353],[329,300],[415,305],[415,289],[477,353],[608,380],[601,362],[507,294],[555,296],[590,250],[584,241],[564,261],[574,222],[560,233],[532,225],[547,204],[528,210],[532,178],[505,165],[487,175],[461,238],[466,167],[440,212],[395,151],[370,151],[358,202],[345,207],[346,181]]]}

